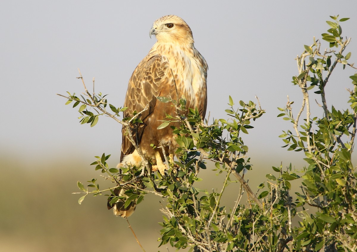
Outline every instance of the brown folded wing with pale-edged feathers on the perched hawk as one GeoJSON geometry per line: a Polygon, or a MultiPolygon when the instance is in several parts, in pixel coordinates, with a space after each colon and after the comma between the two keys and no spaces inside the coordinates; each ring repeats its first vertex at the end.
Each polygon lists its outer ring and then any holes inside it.
{"type": "MultiPolygon", "coordinates": [[[[140,112],[146,105],[149,105],[149,109],[143,112],[139,117],[144,123],[134,125],[135,128],[132,130],[133,137],[137,144],[141,141],[146,119],[154,110],[157,101],[156,97],[160,95],[162,84],[167,83],[169,78],[172,79],[172,75],[170,74],[167,58],[154,53],[149,53],[139,65],[137,65],[131,75],[124,102],[124,107],[128,107],[124,112],[124,118],[133,117],[134,111],[140,112]]],[[[124,127],[122,128],[122,136],[120,161],[122,161],[125,155],[129,155],[135,150],[134,146],[126,137],[124,127]]]]}

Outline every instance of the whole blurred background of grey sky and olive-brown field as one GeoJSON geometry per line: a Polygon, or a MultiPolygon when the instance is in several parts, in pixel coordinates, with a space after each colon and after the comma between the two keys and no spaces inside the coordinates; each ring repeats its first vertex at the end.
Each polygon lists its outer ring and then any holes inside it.
{"type": "MultiPolygon", "coordinates": [[[[351,18],[343,35],[356,61],[356,1],[3,1],[0,8],[0,250],[1,251],[141,251],[125,219],[106,209],[106,197],[87,196],[81,205],[76,183],[98,178],[96,155],[112,154],[119,163],[121,125],[100,118],[94,128],[79,124],[79,113],[56,93],[80,94],[77,68],[96,92],[109,94],[111,104],[124,103],[132,71],[155,43],[152,23],[175,14],[193,31],[195,47],[208,62],[208,106],[213,118],[227,118],[228,95],[260,99],[266,114],[244,135],[253,165],[246,174],[253,191],[271,166],[300,169],[303,153],[287,152],[278,135],[291,129],[277,118],[287,95],[301,104],[292,86],[295,57],[313,36],[329,29],[329,15],[351,18]]],[[[322,42],[322,51],[328,44],[322,42]]],[[[328,105],[346,109],[352,88],[351,68],[338,66],[327,87],[328,105]]],[[[313,97],[312,97],[313,98],[313,97]]],[[[315,116],[322,112],[313,110],[315,116]]],[[[197,187],[220,189],[220,178],[208,164],[197,187]]],[[[230,186],[233,206],[238,185],[230,186]]],[[[162,199],[161,199],[162,200],[162,199]]],[[[130,224],[149,251],[175,251],[160,242],[160,199],[145,198],[130,224]]]]}

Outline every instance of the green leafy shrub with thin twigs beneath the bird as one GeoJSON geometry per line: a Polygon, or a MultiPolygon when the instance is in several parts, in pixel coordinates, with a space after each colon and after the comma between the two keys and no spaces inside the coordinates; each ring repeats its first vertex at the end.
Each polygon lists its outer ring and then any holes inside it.
{"type": "MultiPolygon", "coordinates": [[[[74,93],[60,96],[67,99],[66,104],[74,101],[73,107],[81,104],[81,124],[90,123],[93,127],[102,115],[122,124],[143,165],[111,168],[110,155],[97,156],[91,165],[116,186],[100,189],[97,179],[92,179],[85,188],[78,182],[80,193],[85,194],[79,203],[87,194],[110,192],[106,195],[109,205],[122,201],[127,207],[139,204],[146,194],[153,193],[165,201],[161,209],[165,216],[160,223],[160,246],[170,243],[177,249],[190,247],[190,251],[195,252],[356,251],[357,172],[351,157],[356,135],[357,74],[350,76],[353,84],[348,90],[350,108],[344,111],[330,108],[325,88],[327,84],[333,85],[329,81],[332,72],[339,65],[342,69],[346,66],[356,69],[349,62],[351,53],[345,53],[351,39],[342,37],[340,25],[348,18],[331,18],[333,21],[327,21],[330,28],[322,34],[321,42],[313,38],[313,43],[305,45],[296,58],[298,73],[292,83],[302,93],[301,107],[293,113],[295,103],[288,97],[285,107],[278,108],[281,112],[278,117],[289,121],[292,127],[280,135],[285,143],[283,147],[305,154],[307,164],[300,171],[291,163],[287,167],[282,164],[272,167],[272,173],[266,174],[267,181],[258,186],[257,192],[253,192],[241,175],[252,169],[249,148],[243,139],[253,128],[252,122],[265,113],[259,100],[257,103],[240,101],[237,108],[229,97],[225,110],[228,119],[214,119],[209,124],[208,120],[203,122],[197,109],[186,108],[184,98],[157,97],[158,102],[176,107],[176,114],[167,115],[158,129],[172,128],[177,150],[175,159],[165,157],[169,168],[165,174],[152,172],[151,163],[132,137],[133,125],[142,123],[140,115],[147,107],[131,118],[120,120],[119,114],[126,108],[109,104],[112,113],[108,112],[106,95],[94,92],[94,79],[93,92],[88,92],[80,74],[78,78],[82,79],[85,89],[83,95],[80,98],[74,93]],[[323,41],[329,43],[330,50],[321,52],[323,41]],[[320,95],[316,104],[311,102],[311,92],[320,95]],[[320,114],[312,114],[314,105],[320,108],[320,114]],[[175,122],[176,127],[170,126],[171,122],[175,122]],[[197,187],[202,180],[199,174],[206,169],[206,164],[214,164],[214,171],[224,174],[220,190],[197,187]],[[301,182],[300,191],[292,192],[292,181],[301,182]],[[116,193],[119,189],[122,194],[116,193]],[[236,201],[222,206],[222,197],[232,192],[236,201]],[[247,202],[242,202],[243,194],[247,195],[247,202]]],[[[164,146],[153,148],[162,148],[166,156],[164,146]]]]}

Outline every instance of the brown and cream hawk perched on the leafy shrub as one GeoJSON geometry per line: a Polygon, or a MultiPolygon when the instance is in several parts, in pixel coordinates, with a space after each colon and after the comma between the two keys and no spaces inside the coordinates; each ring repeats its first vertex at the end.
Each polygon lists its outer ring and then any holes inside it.
{"type": "MultiPolygon", "coordinates": [[[[157,19],[150,29],[157,42],[149,54],[137,65],[129,80],[124,107],[125,117],[133,117],[134,112],[142,112],[139,118],[143,123],[137,124],[133,130],[133,139],[147,160],[150,160],[152,171],[161,174],[167,170],[162,160],[164,147],[166,155],[174,154],[176,148],[175,136],[171,127],[157,129],[166,118],[166,114],[176,115],[172,103],[160,102],[157,97],[168,97],[172,100],[186,99],[186,108],[197,108],[204,118],[207,107],[207,63],[203,56],[193,46],[193,36],[186,22],[175,15],[163,16],[157,19]]],[[[169,126],[175,125],[172,122],[169,126]]],[[[121,162],[118,167],[131,165],[139,167],[142,159],[133,144],[126,136],[123,127],[121,162]]],[[[117,195],[123,195],[122,188],[117,195]]],[[[111,208],[111,206],[109,206],[111,208]]],[[[114,204],[114,214],[128,217],[134,212],[135,204],[124,208],[124,202],[114,204]]]]}

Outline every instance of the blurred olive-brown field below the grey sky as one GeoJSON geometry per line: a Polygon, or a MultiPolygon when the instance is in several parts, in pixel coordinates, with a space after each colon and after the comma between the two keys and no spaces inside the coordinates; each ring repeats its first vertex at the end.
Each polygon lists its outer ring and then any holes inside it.
{"type": "MultiPolygon", "coordinates": [[[[4,154],[4,152],[2,152],[4,154]]],[[[93,158],[94,160],[94,158],[93,158]]],[[[0,247],[1,251],[141,251],[125,219],[115,217],[106,208],[106,197],[87,196],[78,204],[77,181],[98,178],[101,189],[109,186],[89,164],[93,160],[64,159],[63,155],[41,160],[23,160],[15,154],[1,157],[0,247]],[[75,160],[75,161],[74,161],[75,160]]],[[[263,163],[263,162],[262,162],[263,163]]],[[[271,166],[257,165],[250,177],[253,191],[271,166]],[[259,172],[257,172],[259,171],[259,172]]],[[[199,188],[221,189],[223,176],[212,169],[201,170],[199,188]]],[[[239,192],[231,184],[222,199],[232,207],[239,192]]],[[[175,251],[159,246],[162,198],[148,195],[129,218],[146,252],[175,251]]],[[[245,203],[245,202],[243,202],[245,203]]],[[[188,249],[187,249],[188,250],[188,249]]],[[[186,251],[187,251],[186,250],[186,251]]],[[[184,251],[184,250],[181,250],[184,251]]]]}

